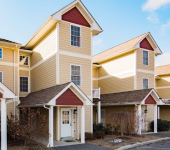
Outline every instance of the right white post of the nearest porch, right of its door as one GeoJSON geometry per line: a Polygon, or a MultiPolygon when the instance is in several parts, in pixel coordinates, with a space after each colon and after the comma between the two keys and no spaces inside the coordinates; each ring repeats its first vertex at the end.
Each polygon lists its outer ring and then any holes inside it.
{"type": "Polygon", "coordinates": [[[81,143],[85,143],[85,109],[81,107],[81,143]]]}

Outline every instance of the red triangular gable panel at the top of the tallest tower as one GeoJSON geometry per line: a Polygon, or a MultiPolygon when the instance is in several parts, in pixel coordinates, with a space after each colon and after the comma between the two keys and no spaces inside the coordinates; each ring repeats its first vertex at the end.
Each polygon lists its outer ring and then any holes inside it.
{"type": "Polygon", "coordinates": [[[80,13],[80,11],[76,7],[74,7],[73,9],[63,14],[62,20],[72,22],[75,24],[79,24],[82,26],[90,27],[87,20],[83,17],[83,15],[80,13]]]}

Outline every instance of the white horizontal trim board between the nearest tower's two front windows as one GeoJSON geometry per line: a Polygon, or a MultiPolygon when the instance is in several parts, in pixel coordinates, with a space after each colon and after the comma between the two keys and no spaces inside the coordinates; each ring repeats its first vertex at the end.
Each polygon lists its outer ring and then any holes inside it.
{"type": "Polygon", "coordinates": [[[63,51],[63,50],[60,50],[59,54],[66,55],[66,56],[72,56],[72,57],[85,58],[85,59],[92,59],[92,56],[90,56],[90,55],[73,53],[73,52],[68,52],[68,51],[63,51]]]}

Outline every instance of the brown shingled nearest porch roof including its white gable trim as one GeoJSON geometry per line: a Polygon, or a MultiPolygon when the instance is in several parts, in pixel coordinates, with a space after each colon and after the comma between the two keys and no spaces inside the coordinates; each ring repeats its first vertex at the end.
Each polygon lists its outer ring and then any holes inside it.
{"type": "Polygon", "coordinates": [[[60,84],[46,89],[42,89],[40,91],[32,92],[26,97],[20,98],[20,104],[18,106],[32,107],[43,105],[55,105],[55,100],[61,94],[63,94],[64,91],[71,87],[73,87],[75,91],[77,91],[79,95],[86,100],[86,105],[89,105],[90,103],[92,104],[92,102],[90,102],[87,96],[73,82],[68,82],[65,84],[60,84]]]}

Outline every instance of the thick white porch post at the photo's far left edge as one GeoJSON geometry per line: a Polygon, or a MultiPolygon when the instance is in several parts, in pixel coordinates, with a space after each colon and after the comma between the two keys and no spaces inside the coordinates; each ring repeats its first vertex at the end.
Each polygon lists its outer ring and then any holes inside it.
{"type": "Polygon", "coordinates": [[[6,103],[1,99],[1,150],[7,150],[6,103]]]}

